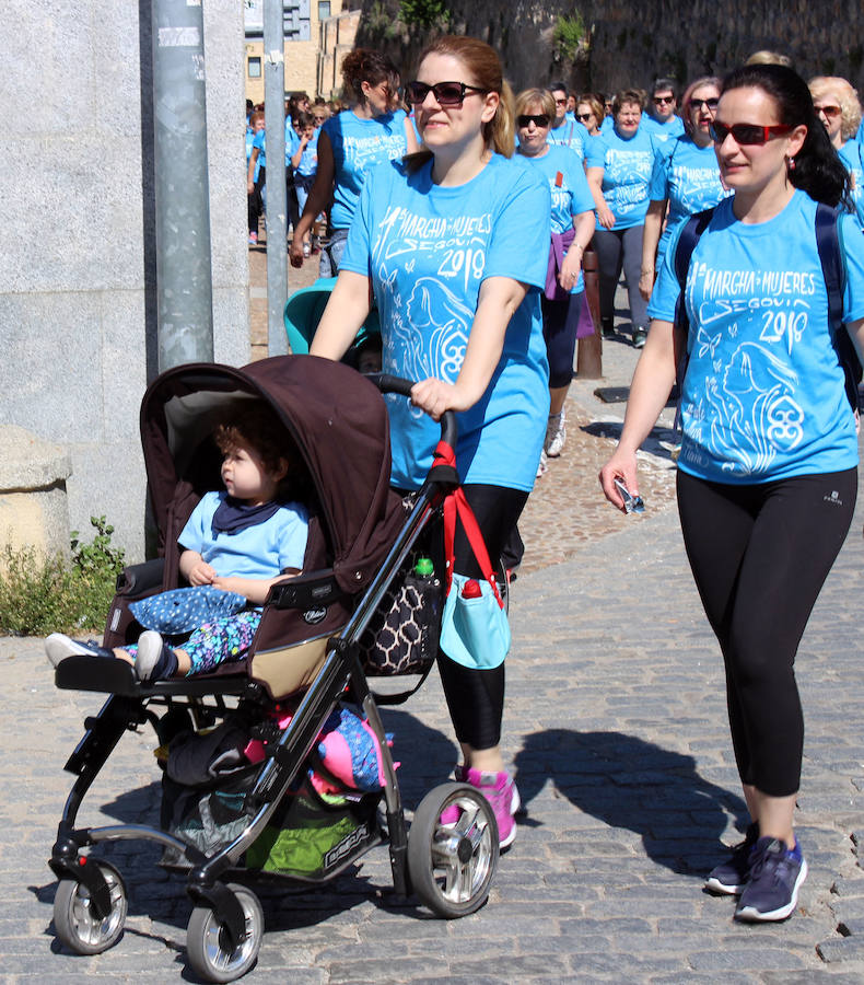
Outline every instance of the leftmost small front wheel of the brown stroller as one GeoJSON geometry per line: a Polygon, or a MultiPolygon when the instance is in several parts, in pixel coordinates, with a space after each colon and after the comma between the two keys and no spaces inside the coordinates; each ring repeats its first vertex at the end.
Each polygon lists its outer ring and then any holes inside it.
{"type": "Polygon", "coordinates": [[[90,861],[98,866],[108,883],[110,909],[100,916],[93,906],[90,890],[77,879],[61,879],[54,897],[54,928],[60,940],[77,954],[100,954],[117,942],[126,923],[126,887],[120,873],[105,861],[90,861]]]}

